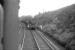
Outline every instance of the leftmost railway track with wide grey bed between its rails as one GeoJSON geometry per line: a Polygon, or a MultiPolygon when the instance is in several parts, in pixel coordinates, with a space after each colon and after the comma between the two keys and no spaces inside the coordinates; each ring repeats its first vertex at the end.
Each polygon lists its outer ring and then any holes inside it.
{"type": "Polygon", "coordinates": [[[24,31],[18,50],[39,50],[31,31],[24,31]]]}

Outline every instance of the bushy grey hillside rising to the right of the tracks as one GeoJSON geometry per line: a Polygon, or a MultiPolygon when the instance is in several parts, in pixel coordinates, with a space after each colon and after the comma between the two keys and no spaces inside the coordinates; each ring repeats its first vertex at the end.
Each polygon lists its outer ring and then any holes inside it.
{"type": "Polygon", "coordinates": [[[33,19],[25,18],[24,21],[31,21],[37,26],[42,25],[43,31],[62,43],[68,43],[75,36],[75,4],[53,12],[38,14],[33,19]]]}

